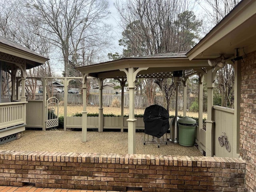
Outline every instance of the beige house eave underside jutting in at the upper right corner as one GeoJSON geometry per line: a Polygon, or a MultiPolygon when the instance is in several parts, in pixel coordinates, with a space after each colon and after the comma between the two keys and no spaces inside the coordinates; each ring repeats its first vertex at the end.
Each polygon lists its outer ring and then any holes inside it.
{"type": "Polygon", "coordinates": [[[186,56],[192,59],[226,58],[234,56],[236,48],[240,55],[256,50],[256,1],[240,2],[218,25],[216,25],[186,56]]]}

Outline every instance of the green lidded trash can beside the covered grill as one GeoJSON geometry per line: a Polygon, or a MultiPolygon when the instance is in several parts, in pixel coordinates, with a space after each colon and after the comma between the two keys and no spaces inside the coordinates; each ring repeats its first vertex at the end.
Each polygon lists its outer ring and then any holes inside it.
{"type": "Polygon", "coordinates": [[[194,146],[196,134],[196,120],[186,116],[178,120],[178,138],[182,146],[194,146]]]}

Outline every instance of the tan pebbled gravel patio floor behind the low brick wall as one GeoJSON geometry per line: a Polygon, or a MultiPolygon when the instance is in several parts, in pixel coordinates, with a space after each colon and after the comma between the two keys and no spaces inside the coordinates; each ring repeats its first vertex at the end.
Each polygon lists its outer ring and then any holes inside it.
{"type": "MultiPolygon", "coordinates": [[[[94,152],[118,153],[128,152],[127,132],[87,132],[87,142],[81,141],[81,131],[35,131],[26,130],[23,136],[6,144],[0,150],[26,150],[48,152],[94,152]]],[[[151,137],[151,136],[150,136],[151,137]]],[[[168,138],[169,138],[168,134],[168,138]]],[[[144,133],[136,132],[137,154],[161,154],[172,156],[202,156],[195,146],[184,147],[179,144],[165,142],[157,147],[156,142],[143,144],[144,133]]]]}

